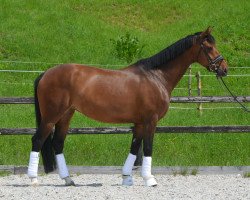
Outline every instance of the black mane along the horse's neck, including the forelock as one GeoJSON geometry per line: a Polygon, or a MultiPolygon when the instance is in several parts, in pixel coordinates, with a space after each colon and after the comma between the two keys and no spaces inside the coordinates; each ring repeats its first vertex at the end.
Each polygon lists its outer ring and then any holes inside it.
{"type": "MultiPolygon", "coordinates": [[[[191,48],[194,43],[195,37],[199,36],[201,32],[195,33],[194,35],[188,35],[187,37],[175,42],[166,49],[163,49],[159,53],[136,62],[136,65],[143,65],[146,69],[159,68],[160,66],[168,63],[169,61],[175,59],[187,49],[191,48]]],[[[207,38],[208,42],[214,43],[214,38],[209,35],[207,38]]]]}

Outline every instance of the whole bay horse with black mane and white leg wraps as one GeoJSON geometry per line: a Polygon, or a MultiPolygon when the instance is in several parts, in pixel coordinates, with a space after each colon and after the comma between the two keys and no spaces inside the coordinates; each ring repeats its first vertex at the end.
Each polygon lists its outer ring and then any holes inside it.
{"type": "Polygon", "coordinates": [[[132,168],[143,142],[141,176],[146,186],[156,186],[151,174],[155,128],[169,109],[171,92],[195,62],[217,76],[227,75],[227,63],[216,49],[210,27],[120,70],[80,64],[48,69],[34,84],[37,131],[32,137],[28,167],[31,183],[38,184],[41,151],[45,172],[52,172],[57,166],[65,184],[74,185],[63,147],[70,119],[78,111],[101,122],[133,123],[131,149],[122,168],[122,185],[133,185],[132,168]]]}

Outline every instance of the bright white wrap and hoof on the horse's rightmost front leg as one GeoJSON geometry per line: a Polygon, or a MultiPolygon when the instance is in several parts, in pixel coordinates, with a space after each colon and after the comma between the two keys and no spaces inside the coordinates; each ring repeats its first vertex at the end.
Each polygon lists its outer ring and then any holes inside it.
{"type": "Polygon", "coordinates": [[[157,182],[151,174],[152,157],[143,157],[141,175],[146,186],[156,186],[157,182]]]}

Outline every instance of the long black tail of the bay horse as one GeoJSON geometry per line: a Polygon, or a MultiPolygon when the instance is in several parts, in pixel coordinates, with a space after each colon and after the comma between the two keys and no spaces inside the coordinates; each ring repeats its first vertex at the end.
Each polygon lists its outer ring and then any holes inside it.
{"type": "MultiPolygon", "coordinates": [[[[37,136],[39,137],[39,126],[41,123],[41,112],[40,112],[40,107],[39,107],[39,101],[37,97],[37,87],[39,84],[40,79],[42,78],[43,74],[41,74],[34,83],[34,97],[35,97],[35,113],[36,113],[36,125],[37,125],[37,136]]],[[[55,153],[54,149],[52,148],[52,134],[51,133],[47,139],[44,141],[43,146],[41,148],[41,154],[42,154],[42,159],[43,159],[43,165],[44,165],[44,171],[45,173],[52,172],[56,169],[56,162],[55,162],[55,153]]]]}

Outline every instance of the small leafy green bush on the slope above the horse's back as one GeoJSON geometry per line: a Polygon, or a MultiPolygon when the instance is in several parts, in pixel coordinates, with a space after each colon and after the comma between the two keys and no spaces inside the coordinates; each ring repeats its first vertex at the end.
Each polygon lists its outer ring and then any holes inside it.
{"type": "Polygon", "coordinates": [[[136,36],[126,33],[123,36],[119,36],[117,40],[111,39],[111,42],[114,45],[114,55],[118,59],[125,60],[129,64],[135,58],[141,57],[144,45],[140,45],[136,36]]]}

